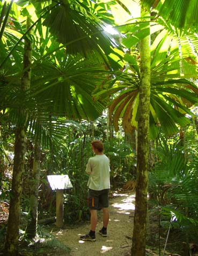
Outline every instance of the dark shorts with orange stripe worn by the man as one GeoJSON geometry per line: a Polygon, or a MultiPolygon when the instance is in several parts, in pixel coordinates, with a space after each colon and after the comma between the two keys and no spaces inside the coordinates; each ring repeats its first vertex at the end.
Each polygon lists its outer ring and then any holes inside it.
{"type": "Polygon", "coordinates": [[[103,190],[89,190],[89,209],[101,210],[102,208],[108,207],[108,191],[109,189],[103,190]]]}

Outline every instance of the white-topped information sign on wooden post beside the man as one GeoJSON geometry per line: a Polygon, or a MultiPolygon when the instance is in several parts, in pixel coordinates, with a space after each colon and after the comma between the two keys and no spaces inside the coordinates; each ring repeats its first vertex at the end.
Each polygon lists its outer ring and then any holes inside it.
{"type": "Polygon", "coordinates": [[[56,226],[63,227],[63,191],[72,189],[68,175],[48,175],[48,182],[52,190],[56,190],[56,226]]]}

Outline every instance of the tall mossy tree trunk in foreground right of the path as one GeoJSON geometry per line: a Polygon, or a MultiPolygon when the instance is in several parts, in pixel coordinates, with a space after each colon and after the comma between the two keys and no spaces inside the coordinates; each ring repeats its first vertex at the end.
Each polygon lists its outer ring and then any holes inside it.
{"type": "MultiPolygon", "coordinates": [[[[146,15],[142,6],[141,17],[146,15]]],[[[147,13],[148,16],[148,13],[147,13]]],[[[147,19],[148,20],[148,19],[147,19]]],[[[149,20],[148,20],[149,21],[149,20]]],[[[149,29],[149,22],[148,22],[149,29]]],[[[137,134],[137,181],[131,255],[145,256],[149,166],[150,36],[141,40],[140,119],[137,134]]]]}

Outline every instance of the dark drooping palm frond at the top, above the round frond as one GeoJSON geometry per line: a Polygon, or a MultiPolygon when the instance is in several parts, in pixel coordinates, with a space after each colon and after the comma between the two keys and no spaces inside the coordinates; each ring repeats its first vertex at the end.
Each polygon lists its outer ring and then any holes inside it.
{"type": "Polygon", "coordinates": [[[81,53],[87,57],[87,54],[97,52],[106,64],[110,61],[114,67],[119,67],[109,57],[113,53],[122,58],[118,51],[113,51],[115,46],[119,46],[118,43],[104,32],[105,24],[86,5],[78,1],[72,4],[60,1],[50,8],[43,25],[49,27],[58,42],[66,46],[68,54],[81,53]]]}

